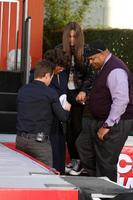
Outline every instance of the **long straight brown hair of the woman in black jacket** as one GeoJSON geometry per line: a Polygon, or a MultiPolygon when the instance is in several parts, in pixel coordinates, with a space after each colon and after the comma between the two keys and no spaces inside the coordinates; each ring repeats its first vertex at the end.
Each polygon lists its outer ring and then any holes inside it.
{"type": "Polygon", "coordinates": [[[71,30],[74,30],[76,34],[74,46],[75,57],[77,62],[81,64],[83,62],[84,53],[84,33],[77,22],[70,22],[64,28],[62,36],[63,51],[66,52],[69,57],[71,57],[71,47],[69,45],[69,36],[71,30]]]}

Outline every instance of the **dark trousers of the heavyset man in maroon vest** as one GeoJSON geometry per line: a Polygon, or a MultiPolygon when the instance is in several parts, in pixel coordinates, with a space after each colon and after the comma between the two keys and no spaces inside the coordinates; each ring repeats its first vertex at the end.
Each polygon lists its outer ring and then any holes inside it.
{"type": "Polygon", "coordinates": [[[133,120],[120,120],[103,141],[97,137],[97,131],[102,124],[103,121],[89,121],[85,118],[76,146],[82,165],[90,176],[107,176],[116,182],[119,154],[132,129],[133,120]]]}

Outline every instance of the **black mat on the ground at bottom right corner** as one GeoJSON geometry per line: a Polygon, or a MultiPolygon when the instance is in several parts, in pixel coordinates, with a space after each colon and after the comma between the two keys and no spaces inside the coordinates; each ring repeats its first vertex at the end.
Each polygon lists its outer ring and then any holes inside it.
{"type": "Polygon", "coordinates": [[[114,198],[111,198],[114,200],[133,200],[133,189],[126,189],[112,181],[82,176],[62,176],[62,178],[79,188],[80,200],[91,200],[90,194],[116,195],[114,198]]]}

